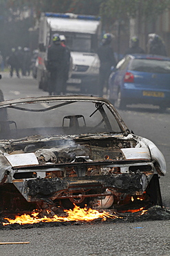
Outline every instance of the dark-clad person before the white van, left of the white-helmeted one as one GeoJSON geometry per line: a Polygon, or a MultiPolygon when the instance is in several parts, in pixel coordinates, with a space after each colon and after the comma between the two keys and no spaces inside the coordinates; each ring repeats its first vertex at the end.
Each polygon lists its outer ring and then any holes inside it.
{"type": "Polygon", "coordinates": [[[54,34],[52,45],[49,46],[47,52],[47,70],[50,73],[49,95],[62,93],[65,51],[65,47],[61,44],[60,35],[54,34]]]}

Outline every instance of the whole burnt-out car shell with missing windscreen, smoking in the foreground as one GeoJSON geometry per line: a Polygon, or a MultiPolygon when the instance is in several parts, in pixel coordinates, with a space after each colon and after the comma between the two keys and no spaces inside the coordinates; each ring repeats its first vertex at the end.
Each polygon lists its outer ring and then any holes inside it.
{"type": "Polygon", "coordinates": [[[108,100],[25,98],[0,102],[0,112],[1,212],[162,205],[164,156],[108,100]]]}

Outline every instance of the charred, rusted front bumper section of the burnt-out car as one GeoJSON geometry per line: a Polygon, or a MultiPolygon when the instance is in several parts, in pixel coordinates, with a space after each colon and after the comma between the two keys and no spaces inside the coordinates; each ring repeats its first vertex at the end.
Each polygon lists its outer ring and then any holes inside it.
{"type": "Polygon", "coordinates": [[[28,202],[70,199],[72,203],[79,203],[85,198],[111,195],[124,198],[142,195],[153,176],[153,163],[140,162],[70,163],[43,169],[15,167],[11,182],[28,202]]]}

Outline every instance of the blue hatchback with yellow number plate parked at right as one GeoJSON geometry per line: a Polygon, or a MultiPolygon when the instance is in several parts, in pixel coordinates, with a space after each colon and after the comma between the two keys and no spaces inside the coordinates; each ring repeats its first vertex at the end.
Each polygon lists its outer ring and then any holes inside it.
{"type": "Polygon", "coordinates": [[[158,55],[126,55],[109,77],[107,97],[118,109],[127,104],[170,107],[170,58],[158,55]]]}

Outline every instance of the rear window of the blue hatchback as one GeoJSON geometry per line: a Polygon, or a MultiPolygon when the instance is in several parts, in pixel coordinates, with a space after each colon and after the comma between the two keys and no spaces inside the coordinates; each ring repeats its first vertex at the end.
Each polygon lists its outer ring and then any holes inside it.
{"type": "Polygon", "coordinates": [[[156,59],[134,59],[129,70],[147,73],[170,73],[170,61],[156,59]]]}

